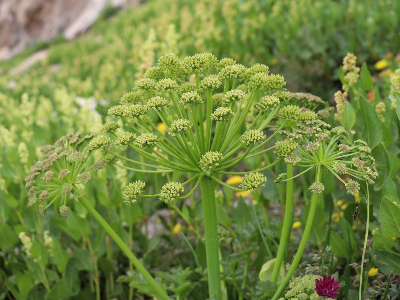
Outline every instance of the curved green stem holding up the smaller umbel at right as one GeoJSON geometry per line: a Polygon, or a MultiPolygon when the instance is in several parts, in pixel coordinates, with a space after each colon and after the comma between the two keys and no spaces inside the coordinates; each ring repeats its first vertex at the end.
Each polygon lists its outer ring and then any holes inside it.
{"type": "MultiPolygon", "coordinates": [[[[315,175],[315,181],[321,181],[322,178],[322,172],[320,170],[320,166],[318,166],[317,169],[317,174],[315,175]]],[[[311,205],[310,205],[310,211],[308,212],[308,217],[307,217],[307,222],[306,222],[306,227],[304,228],[304,233],[300,241],[300,245],[297,249],[296,255],[293,258],[292,264],[290,265],[290,268],[288,272],[286,273],[285,278],[283,278],[282,283],[280,284],[278,290],[275,292],[274,296],[272,297],[272,300],[277,300],[282,292],[285,290],[286,286],[288,285],[290,278],[292,278],[294,271],[296,270],[301,257],[304,252],[304,248],[306,248],[308,236],[310,235],[311,231],[311,226],[312,222],[314,221],[314,215],[315,215],[315,210],[317,208],[317,200],[318,200],[318,195],[317,194],[312,194],[311,198],[311,205]]]]}

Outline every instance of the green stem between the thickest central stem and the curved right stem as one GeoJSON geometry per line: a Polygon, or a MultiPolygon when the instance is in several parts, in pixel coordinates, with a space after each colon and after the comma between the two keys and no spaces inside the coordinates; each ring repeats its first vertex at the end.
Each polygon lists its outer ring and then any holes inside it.
{"type": "MultiPolygon", "coordinates": [[[[293,166],[292,164],[286,165],[286,173],[288,178],[293,177],[293,166]]],[[[286,182],[286,202],[285,202],[285,214],[283,217],[282,233],[280,235],[278,253],[276,255],[276,261],[274,269],[272,270],[271,281],[276,283],[278,280],[280,265],[282,264],[283,256],[285,253],[286,244],[292,228],[292,205],[293,205],[293,178],[286,182]]]]}

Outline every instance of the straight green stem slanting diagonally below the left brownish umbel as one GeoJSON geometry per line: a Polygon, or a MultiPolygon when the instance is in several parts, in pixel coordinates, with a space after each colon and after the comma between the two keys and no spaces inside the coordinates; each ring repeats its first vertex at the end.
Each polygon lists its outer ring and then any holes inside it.
{"type": "MultiPolygon", "coordinates": [[[[214,192],[214,190],[213,190],[214,192]]],[[[161,288],[161,286],[154,280],[154,278],[150,275],[150,273],[146,270],[146,268],[140,263],[138,258],[130,251],[129,247],[126,246],[124,241],[118,236],[118,234],[111,228],[110,225],[103,219],[102,216],[97,212],[97,210],[89,203],[86,198],[80,198],[80,203],[86,207],[86,209],[92,214],[92,216],[100,223],[100,225],[106,230],[106,232],[111,236],[111,238],[116,242],[116,244],[120,247],[120,249],[126,254],[132,264],[135,266],[136,270],[138,270],[143,277],[149,282],[150,286],[154,289],[161,299],[171,300],[170,297],[166,294],[166,292],[161,288]]]]}

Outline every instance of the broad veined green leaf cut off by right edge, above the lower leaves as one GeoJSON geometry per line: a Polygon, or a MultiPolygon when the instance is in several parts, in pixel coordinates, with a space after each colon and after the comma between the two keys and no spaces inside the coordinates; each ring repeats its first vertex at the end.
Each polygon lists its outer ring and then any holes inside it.
{"type": "Polygon", "coordinates": [[[380,204],[379,214],[383,234],[400,238],[400,206],[385,196],[380,204]]]}

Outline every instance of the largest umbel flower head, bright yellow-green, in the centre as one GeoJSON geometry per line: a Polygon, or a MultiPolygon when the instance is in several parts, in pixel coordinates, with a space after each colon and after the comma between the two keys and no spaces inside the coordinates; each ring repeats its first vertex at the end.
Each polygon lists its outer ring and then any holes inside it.
{"type": "MultiPolygon", "coordinates": [[[[284,90],[284,78],[270,74],[268,66],[254,64],[246,68],[231,58],[218,61],[210,53],[198,53],[182,60],[175,54],[164,54],[158,59],[158,66],[145,74],[136,82],[135,92],[124,94],[120,104],[108,110],[108,114],[122,122],[106,123],[101,131],[103,135],[94,139],[90,147],[133,164],[126,166],[128,170],[179,171],[184,180],[189,178],[182,183],[169,182],[159,194],[151,196],[166,202],[185,198],[194,192],[192,188],[182,195],[185,185],[197,180],[196,188],[204,176],[210,177],[214,184],[224,184],[234,190],[256,190],[266,180],[262,171],[276,162],[264,162],[262,168],[244,172],[232,172],[231,168],[273,148],[278,159],[287,158],[291,164],[300,160],[294,156],[298,140],[285,140],[272,148],[267,143],[286,126],[293,127],[301,114],[300,122],[316,114],[303,113],[299,106],[292,105],[288,100],[291,94],[284,90]],[[192,78],[195,83],[191,82],[192,78]],[[275,120],[277,126],[273,124],[275,120]],[[160,122],[168,134],[156,125],[160,122]],[[124,132],[119,136],[118,124],[124,124],[121,126],[124,132]],[[266,129],[272,133],[267,135],[266,129]],[[128,158],[126,148],[141,159],[128,158]],[[223,180],[227,174],[248,175],[241,187],[236,188],[223,180]]],[[[317,101],[309,102],[315,106],[317,101]]],[[[144,182],[132,184],[124,192],[126,203],[150,196],[143,194],[144,182]]]]}

